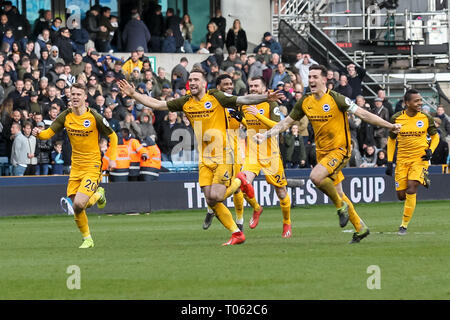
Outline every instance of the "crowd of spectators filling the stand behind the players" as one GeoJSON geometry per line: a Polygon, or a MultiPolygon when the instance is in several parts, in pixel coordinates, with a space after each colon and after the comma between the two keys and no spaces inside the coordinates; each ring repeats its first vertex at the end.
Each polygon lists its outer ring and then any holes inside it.
{"type": "MultiPolygon", "coordinates": [[[[120,138],[126,138],[121,130],[126,128],[140,142],[156,142],[163,161],[195,161],[198,155],[193,129],[183,114],[153,111],[137,104],[116,84],[117,80],[127,79],[139,92],[166,101],[185,95],[188,59],[181,58],[172,70],[159,67],[155,74],[146,55],[149,51],[211,53],[200,64],[207,73],[208,88],[214,88],[217,77],[227,73],[233,78],[236,95],[248,92],[248,79],[263,77],[268,89],[281,90],[284,95],[282,117],[309,91],[309,67],[317,62],[307,53],[298,53],[295,64],[283,63],[282,47],[269,32],[263,34],[253,52],[248,52],[241,22],[235,20],[227,31],[226,20],[218,10],[207,25],[204,42],[195,47],[189,15],[180,18],[169,8],[163,17],[161,7],[155,5],[142,16],[143,20],[132,9],[119,33],[118,18],[107,7],[92,7],[81,25],[74,20],[70,26],[63,26],[60,18],[53,18],[51,11],[45,10],[31,30],[17,8],[5,2],[0,13],[0,157],[8,158],[12,174],[70,171],[67,134],[63,131],[49,141],[40,141],[31,130],[35,126],[48,128],[63,110],[70,108],[70,86],[74,83],[87,86],[89,107],[102,114],[120,138]],[[130,52],[130,57],[125,61],[115,57],[117,50],[130,52]],[[174,147],[180,142],[183,151],[175,154],[174,147]]],[[[403,109],[401,100],[392,106],[383,90],[372,104],[365,101],[364,76],[364,69],[350,64],[345,70],[329,70],[327,86],[385,120],[403,109]]],[[[429,108],[427,111],[425,106],[423,111],[429,112],[429,108]]],[[[450,118],[443,107],[438,107],[434,119],[441,142],[432,162],[447,163],[450,118]]],[[[349,165],[386,165],[387,130],[354,115],[349,115],[349,124],[353,145],[349,165]]],[[[313,130],[306,117],[280,136],[280,149],[288,168],[316,164],[313,130]]]]}

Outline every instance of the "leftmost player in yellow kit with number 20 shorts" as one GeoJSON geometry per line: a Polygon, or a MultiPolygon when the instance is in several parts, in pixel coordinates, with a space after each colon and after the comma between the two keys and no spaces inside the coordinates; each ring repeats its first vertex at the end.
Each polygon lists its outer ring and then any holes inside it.
{"type": "Polygon", "coordinates": [[[86,107],[87,90],[82,84],[71,87],[72,108],[63,111],[46,130],[33,129],[33,135],[48,140],[64,128],[72,145],[72,167],[67,197],[61,199],[61,205],[68,214],[73,214],[75,222],[83,236],[80,248],[94,247],[91,237],[86,208],[97,203],[99,208],[106,205],[105,191],[98,184],[101,181],[100,135],[110,139],[109,168],[115,167],[117,156],[117,135],[108,121],[95,110],[86,107]]]}

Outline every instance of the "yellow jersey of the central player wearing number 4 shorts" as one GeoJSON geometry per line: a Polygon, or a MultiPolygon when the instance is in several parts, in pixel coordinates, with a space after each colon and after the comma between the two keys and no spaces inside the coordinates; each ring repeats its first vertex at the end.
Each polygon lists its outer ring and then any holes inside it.
{"type": "Polygon", "coordinates": [[[167,102],[169,111],[183,111],[191,122],[198,142],[199,162],[234,163],[233,149],[227,139],[229,123],[225,108],[236,109],[236,99],[211,89],[201,100],[186,95],[167,102]]]}

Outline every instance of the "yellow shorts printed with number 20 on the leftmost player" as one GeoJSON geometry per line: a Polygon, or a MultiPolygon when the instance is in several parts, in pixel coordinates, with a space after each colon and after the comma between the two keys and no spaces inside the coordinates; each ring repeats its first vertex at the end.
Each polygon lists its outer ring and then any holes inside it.
{"type": "Polygon", "coordinates": [[[101,181],[102,173],[73,170],[70,172],[69,183],[67,184],[67,196],[81,192],[89,198],[97,191],[101,181]]]}

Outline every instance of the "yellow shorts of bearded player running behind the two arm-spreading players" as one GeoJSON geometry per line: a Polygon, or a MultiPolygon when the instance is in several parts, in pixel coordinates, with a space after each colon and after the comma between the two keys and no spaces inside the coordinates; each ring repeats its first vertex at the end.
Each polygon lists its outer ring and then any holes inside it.
{"type": "Polygon", "coordinates": [[[262,170],[266,177],[266,181],[269,184],[279,188],[287,185],[283,161],[281,161],[280,156],[272,157],[268,160],[258,159],[257,163],[250,163],[248,157],[245,160],[242,171],[253,172],[258,176],[259,172],[262,170]]]}

